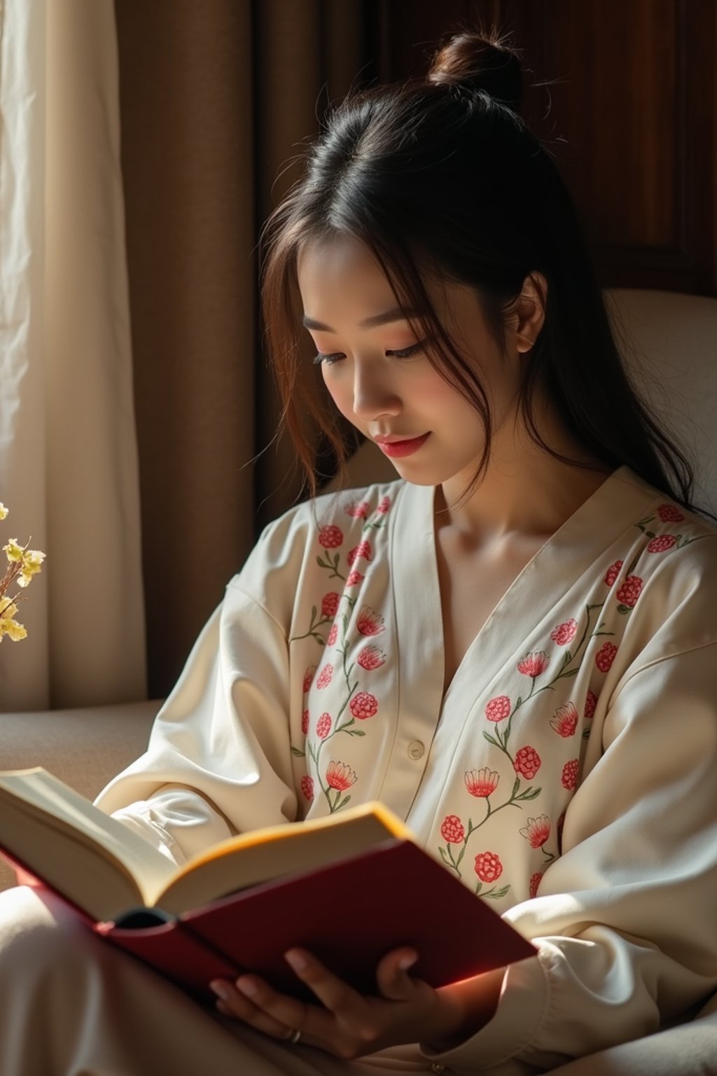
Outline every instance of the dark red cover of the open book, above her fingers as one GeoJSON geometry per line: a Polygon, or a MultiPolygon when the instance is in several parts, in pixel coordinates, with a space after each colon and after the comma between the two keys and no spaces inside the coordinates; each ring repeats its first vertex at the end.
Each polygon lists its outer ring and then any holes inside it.
{"type": "Polygon", "coordinates": [[[534,955],[534,947],[445,867],[406,840],[318,870],[257,886],[176,919],[100,924],[116,945],[186,989],[255,972],[298,997],[311,994],[284,960],[309,949],[362,993],[390,949],[412,946],[411,974],[433,987],[534,955]],[[199,948],[198,948],[199,946],[199,948]]]}

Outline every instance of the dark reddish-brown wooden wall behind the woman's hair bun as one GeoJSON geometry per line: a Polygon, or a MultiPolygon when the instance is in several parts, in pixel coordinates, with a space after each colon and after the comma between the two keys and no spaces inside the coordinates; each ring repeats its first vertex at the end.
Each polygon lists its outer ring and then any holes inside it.
{"type": "Polygon", "coordinates": [[[379,76],[426,68],[476,23],[532,72],[526,117],[555,154],[605,286],[717,295],[716,0],[379,0],[379,76]]]}

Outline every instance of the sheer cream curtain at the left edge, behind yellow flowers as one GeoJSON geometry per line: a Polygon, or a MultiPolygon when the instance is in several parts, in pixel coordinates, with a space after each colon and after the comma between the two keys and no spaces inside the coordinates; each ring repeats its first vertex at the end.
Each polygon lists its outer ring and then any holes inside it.
{"type": "Polygon", "coordinates": [[[0,8],[0,538],[43,574],[0,711],[145,694],[112,0],[0,8]]]}

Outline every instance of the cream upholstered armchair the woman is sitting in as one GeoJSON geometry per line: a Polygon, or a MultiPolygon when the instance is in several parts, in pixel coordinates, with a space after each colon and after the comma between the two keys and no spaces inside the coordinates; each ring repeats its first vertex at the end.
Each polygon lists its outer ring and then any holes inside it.
{"type": "MultiPolygon", "coordinates": [[[[665,424],[693,456],[696,499],[717,512],[717,298],[614,291],[611,310],[635,345],[628,365],[665,424]]],[[[626,353],[629,349],[626,349],[626,353]]],[[[352,463],[354,485],[393,476],[374,445],[352,463]]],[[[44,765],[88,797],[146,745],[159,702],[0,714],[2,767],[44,765]]],[[[0,864],[0,889],[12,884],[0,864]]],[[[560,1076],[717,1074],[717,995],[690,1024],[571,1062],[560,1076]]]]}

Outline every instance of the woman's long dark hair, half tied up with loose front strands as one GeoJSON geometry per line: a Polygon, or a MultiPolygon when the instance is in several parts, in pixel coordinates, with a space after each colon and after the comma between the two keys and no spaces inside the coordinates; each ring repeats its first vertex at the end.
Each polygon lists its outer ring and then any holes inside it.
{"type": "Polygon", "coordinates": [[[348,448],[316,368],[300,362],[296,264],[304,243],[343,233],[371,250],[404,309],[425,311],[431,362],[485,424],[476,480],[490,454],[488,400],[475,364],[431,307],[426,274],[471,285],[504,349],[505,315],[526,278],[540,273],[545,317],[520,393],[530,436],[565,458],[536,427],[542,384],[589,456],[611,468],[628,465],[690,507],[691,468],[623,369],[571,198],[518,115],[522,87],[517,55],[494,36],[454,37],[426,80],[364,90],[340,104],[307,155],[304,176],[270,217],[262,273],[269,353],[312,493],[311,424],[328,437],[342,469],[348,448]]]}

